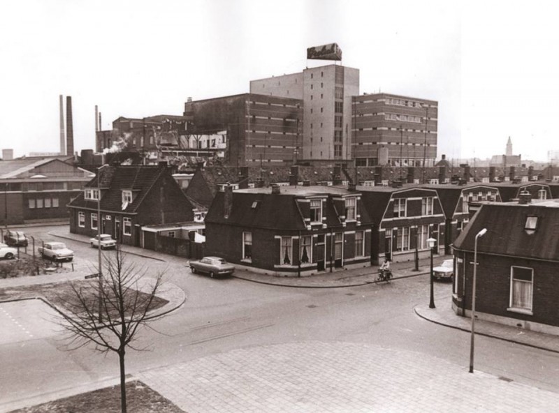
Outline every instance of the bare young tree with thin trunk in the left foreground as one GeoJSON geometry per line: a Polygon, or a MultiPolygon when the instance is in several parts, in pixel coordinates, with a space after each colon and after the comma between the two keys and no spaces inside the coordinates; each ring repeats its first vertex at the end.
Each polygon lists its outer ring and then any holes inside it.
{"type": "Polygon", "coordinates": [[[65,297],[66,310],[61,312],[60,325],[68,333],[68,350],[93,343],[103,354],[118,354],[122,413],[126,413],[126,349],[145,350],[133,345],[137,333],[140,327],[160,318],[150,313],[161,303],[157,294],[163,273],[154,278],[145,278],[145,273],[145,269],[138,271],[133,263],[126,262],[126,255],[117,246],[115,254],[105,257],[101,279],[72,283],[71,294],[65,297]]]}

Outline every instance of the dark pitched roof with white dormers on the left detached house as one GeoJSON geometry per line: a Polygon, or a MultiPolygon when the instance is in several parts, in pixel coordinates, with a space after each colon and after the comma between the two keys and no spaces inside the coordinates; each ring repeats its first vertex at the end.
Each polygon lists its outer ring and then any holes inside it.
{"type": "MultiPolygon", "coordinates": [[[[100,185],[97,178],[94,178],[86,187],[101,187],[103,211],[135,213],[154,183],[165,173],[169,173],[167,168],[159,166],[106,166],[99,171],[100,185]],[[126,209],[122,209],[122,190],[132,190],[133,193],[133,201],[126,209]]],[[[84,194],[81,193],[68,207],[96,209],[97,201],[85,200],[84,194]]]]}

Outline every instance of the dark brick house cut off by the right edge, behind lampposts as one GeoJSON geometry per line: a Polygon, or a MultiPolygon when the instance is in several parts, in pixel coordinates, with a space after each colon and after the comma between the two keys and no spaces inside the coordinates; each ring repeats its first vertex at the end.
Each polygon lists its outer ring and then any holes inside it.
{"type": "Polygon", "coordinates": [[[483,204],[454,243],[452,307],[471,315],[474,239],[477,242],[476,314],[481,320],[559,333],[558,202],[483,204]]]}

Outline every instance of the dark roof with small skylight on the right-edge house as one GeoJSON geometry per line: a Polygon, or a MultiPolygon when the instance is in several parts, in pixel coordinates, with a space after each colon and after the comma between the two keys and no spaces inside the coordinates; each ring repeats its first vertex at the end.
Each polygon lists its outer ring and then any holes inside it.
{"type": "Polygon", "coordinates": [[[477,241],[478,253],[559,261],[558,222],[556,200],[530,204],[490,202],[481,205],[454,242],[454,248],[473,251],[476,234],[486,228],[486,234],[477,241]],[[524,229],[527,216],[537,216],[537,228],[532,234],[524,229]]]}

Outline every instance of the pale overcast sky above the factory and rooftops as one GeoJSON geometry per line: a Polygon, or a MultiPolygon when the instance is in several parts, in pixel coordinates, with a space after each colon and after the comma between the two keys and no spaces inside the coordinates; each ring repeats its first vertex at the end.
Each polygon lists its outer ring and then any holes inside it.
{"type": "Polygon", "coordinates": [[[559,7],[552,1],[17,0],[0,17],[0,148],[59,150],[59,95],[75,150],[119,116],[182,114],[249,81],[328,64],[337,43],[360,92],[439,102],[438,153],[523,159],[559,150],[559,7]]]}

